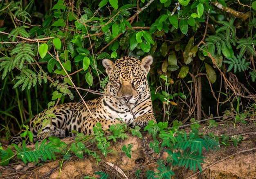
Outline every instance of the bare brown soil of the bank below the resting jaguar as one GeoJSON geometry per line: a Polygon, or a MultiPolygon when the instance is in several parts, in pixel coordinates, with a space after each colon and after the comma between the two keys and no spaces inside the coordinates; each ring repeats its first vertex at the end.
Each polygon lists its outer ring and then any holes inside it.
{"type": "MultiPolygon", "coordinates": [[[[208,134],[212,132],[216,136],[236,135],[243,136],[241,143],[237,147],[231,143],[227,147],[220,146],[217,152],[204,151],[205,163],[202,165],[203,171],[193,172],[185,168],[173,168],[177,179],[256,179],[256,124],[254,119],[247,121],[248,124],[238,123],[235,125],[231,122],[221,122],[218,127],[207,129],[201,127],[201,132],[208,134]]],[[[202,125],[201,125],[202,126],[202,125]]],[[[188,129],[189,130],[189,129],[188,129]]],[[[116,152],[108,153],[106,157],[101,155],[101,161],[97,165],[97,161],[88,155],[83,159],[79,159],[73,155],[70,161],[62,162],[61,156],[56,161],[47,161],[40,163],[22,163],[20,160],[11,160],[8,166],[0,166],[1,179],[83,179],[85,176],[100,178],[94,172],[104,172],[109,175],[110,179],[133,179],[146,178],[146,171],[157,170],[157,158],[159,154],[152,150],[145,150],[150,141],[153,141],[149,134],[145,134],[144,141],[137,136],[127,133],[128,139],[118,140],[117,143],[112,142],[110,149],[116,152]],[[131,159],[122,152],[122,146],[132,144],[131,159]],[[136,175],[136,172],[141,172],[136,175]]],[[[72,143],[74,138],[63,139],[66,143],[72,143]]],[[[3,147],[7,147],[7,141],[0,140],[3,147]]],[[[88,143],[89,145],[89,143],[88,143]]],[[[31,146],[33,147],[33,146],[31,146]]],[[[97,146],[90,145],[90,149],[98,151],[97,146]]],[[[167,157],[163,152],[161,158],[167,157]]]]}

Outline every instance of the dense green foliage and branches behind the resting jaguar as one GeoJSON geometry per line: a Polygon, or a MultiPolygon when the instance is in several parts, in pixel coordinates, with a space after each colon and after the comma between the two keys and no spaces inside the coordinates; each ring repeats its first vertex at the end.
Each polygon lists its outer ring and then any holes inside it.
{"type": "Polygon", "coordinates": [[[255,113],[256,2],[3,0],[0,10],[7,139],[46,107],[102,94],[101,59],[125,55],[154,57],[155,116],[169,127],[223,113],[236,123],[255,113]]]}

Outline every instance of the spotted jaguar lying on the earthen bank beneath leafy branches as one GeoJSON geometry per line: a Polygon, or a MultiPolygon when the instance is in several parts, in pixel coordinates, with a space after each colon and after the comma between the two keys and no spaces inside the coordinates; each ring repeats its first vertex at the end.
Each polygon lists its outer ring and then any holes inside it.
{"type": "MultiPolygon", "coordinates": [[[[64,103],[53,107],[51,115],[44,110],[29,121],[29,130],[34,141],[56,136],[60,139],[74,136],[72,130],[93,134],[92,128],[101,123],[102,128],[109,129],[112,124],[126,123],[128,126],[144,128],[148,121],[155,120],[147,75],[153,57],[148,55],[139,60],[124,56],[114,63],[105,58],[102,65],[108,74],[105,94],[85,103],[64,103]],[[43,119],[51,123],[43,125],[43,119]],[[120,120],[121,119],[121,120],[120,120]]],[[[20,131],[10,143],[20,143],[23,138],[20,131]]]]}

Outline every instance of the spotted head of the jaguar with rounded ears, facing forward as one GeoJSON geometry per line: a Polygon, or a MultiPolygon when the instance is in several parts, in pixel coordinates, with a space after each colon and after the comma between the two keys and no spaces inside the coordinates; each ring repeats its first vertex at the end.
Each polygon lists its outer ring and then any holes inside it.
{"type": "Polygon", "coordinates": [[[114,63],[109,59],[103,59],[102,64],[109,77],[107,92],[113,96],[123,97],[123,100],[134,105],[140,100],[150,98],[147,75],[152,63],[153,57],[150,55],[142,60],[124,56],[114,63]]]}

